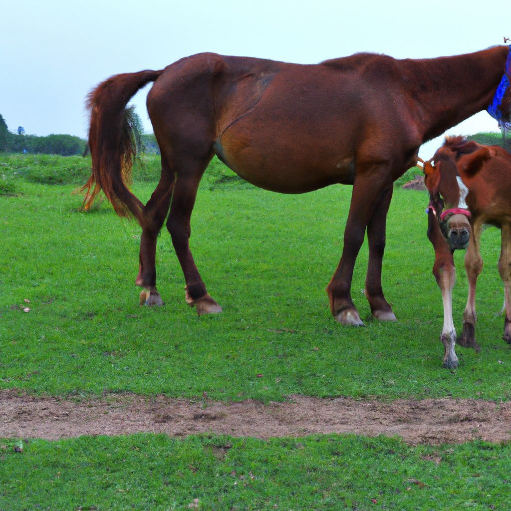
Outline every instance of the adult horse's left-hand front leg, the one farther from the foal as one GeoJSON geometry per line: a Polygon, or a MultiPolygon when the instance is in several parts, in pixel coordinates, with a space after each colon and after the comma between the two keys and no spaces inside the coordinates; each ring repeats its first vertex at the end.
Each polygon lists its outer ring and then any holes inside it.
{"type": "MultiPolygon", "coordinates": [[[[327,286],[327,293],[330,298],[330,309],[335,319],[342,324],[350,324],[358,327],[364,325],[351,297],[353,269],[360,247],[364,241],[365,229],[381,200],[383,200],[383,204],[385,204],[385,202],[387,203],[386,207],[388,209],[388,202],[392,195],[392,193],[389,192],[389,188],[392,187],[392,182],[388,178],[388,175],[390,175],[390,172],[387,166],[373,165],[365,168],[362,166],[357,168],[350,213],[344,229],[344,244],[342,247],[341,260],[332,280],[327,286]],[[387,195],[387,197],[382,199],[384,195],[387,195]]],[[[383,220],[383,223],[385,223],[385,220],[383,220]]],[[[378,252],[381,256],[383,255],[381,246],[378,252]]],[[[369,263],[369,265],[371,265],[371,263],[369,263]]],[[[378,273],[381,274],[381,262],[374,262],[371,267],[373,268],[373,279],[375,282],[371,282],[370,290],[374,293],[378,288],[381,289],[381,282],[377,282],[378,273]],[[378,270],[378,268],[380,268],[380,270],[378,270]]],[[[376,292],[376,294],[378,294],[378,292],[376,292]]]]}

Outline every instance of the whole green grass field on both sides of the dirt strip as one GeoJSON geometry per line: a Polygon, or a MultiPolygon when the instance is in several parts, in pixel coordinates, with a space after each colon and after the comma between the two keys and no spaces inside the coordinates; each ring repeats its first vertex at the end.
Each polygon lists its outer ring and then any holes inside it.
{"type": "MultiPolygon", "coordinates": [[[[165,229],[157,249],[165,307],[138,307],[140,227],[106,202],[80,210],[82,197],[72,192],[88,167],[79,157],[0,157],[0,389],[79,399],[130,391],[263,402],[293,393],[509,400],[511,350],[495,316],[503,296],[497,229],[482,236],[481,352],[458,348],[460,367],[448,371],[441,368],[443,313],[425,235],[426,192],[397,188],[389,212],[383,285],[398,322],[370,317],[364,245],[352,293],[367,328],[344,328],[331,317],[324,288],[340,258],[351,188],[278,195],[214,162],[199,190],[191,247],[224,312],[199,318],[185,304],[165,229]]],[[[135,173],[133,191],[143,200],[155,173],[152,159],[135,173]]],[[[456,254],[458,328],[467,291],[462,257],[456,254]]],[[[0,449],[2,511],[505,509],[510,495],[507,445],[435,450],[351,436],[136,435],[30,440],[19,453],[16,442],[0,449]]]]}

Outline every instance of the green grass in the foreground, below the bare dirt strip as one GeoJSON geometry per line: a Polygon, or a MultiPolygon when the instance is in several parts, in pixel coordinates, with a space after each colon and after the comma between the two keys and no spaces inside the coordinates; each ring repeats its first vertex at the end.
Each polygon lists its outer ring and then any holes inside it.
{"type": "Polygon", "coordinates": [[[511,484],[508,445],[352,435],[11,441],[0,460],[2,511],[507,509],[511,484]]]}

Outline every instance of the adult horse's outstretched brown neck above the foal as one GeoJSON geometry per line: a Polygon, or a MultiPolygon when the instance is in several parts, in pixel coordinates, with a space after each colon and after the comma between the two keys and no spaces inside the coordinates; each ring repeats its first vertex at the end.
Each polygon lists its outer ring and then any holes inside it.
{"type": "Polygon", "coordinates": [[[509,49],[498,46],[466,55],[408,61],[408,83],[424,132],[424,142],[487,108],[502,75],[509,49]]]}

